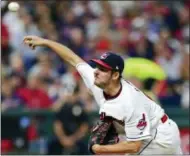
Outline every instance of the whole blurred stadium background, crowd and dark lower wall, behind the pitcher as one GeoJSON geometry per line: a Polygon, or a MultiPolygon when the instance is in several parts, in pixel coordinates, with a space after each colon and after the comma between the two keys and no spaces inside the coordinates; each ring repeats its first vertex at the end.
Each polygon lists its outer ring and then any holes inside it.
{"type": "Polygon", "coordinates": [[[87,62],[110,50],[120,54],[123,77],[177,122],[189,154],[189,8],[185,0],[1,1],[2,154],[87,155],[98,119],[76,70],[50,49],[24,46],[25,35],[60,42],[87,62]],[[160,69],[128,64],[137,58],[160,69]]]}

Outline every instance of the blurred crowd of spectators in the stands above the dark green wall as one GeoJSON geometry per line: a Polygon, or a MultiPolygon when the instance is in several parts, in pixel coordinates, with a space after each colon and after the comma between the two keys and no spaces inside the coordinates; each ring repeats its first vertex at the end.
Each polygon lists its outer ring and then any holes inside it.
{"type": "Polygon", "coordinates": [[[17,11],[1,3],[2,112],[59,111],[76,87],[81,108],[98,111],[76,70],[50,49],[30,50],[25,35],[60,42],[86,61],[106,51],[152,60],[167,74],[151,88],[159,103],[189,108],[189,1],[19,1],[17,11]]]}

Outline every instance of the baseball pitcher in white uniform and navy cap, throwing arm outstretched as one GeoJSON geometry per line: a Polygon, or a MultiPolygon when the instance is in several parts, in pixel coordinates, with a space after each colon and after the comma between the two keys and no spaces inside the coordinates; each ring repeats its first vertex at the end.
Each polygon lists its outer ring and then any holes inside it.
{"type": "MultiPolygon", "coordinates": [[[[164,110],[130,82],[122,78],[123,59],[107,52],[93,59],[96,68],[57,42],[26,36],[32,49],[45,46],[76,67],[100,106],[101,122],[89,140],[93,154],[182,154],[178,126],[164,110]],[[114,123],[124,127],[125,139],[118,141],[114,123]]],[[[146,70],[146,69],[145,69],[146,70]]]]}

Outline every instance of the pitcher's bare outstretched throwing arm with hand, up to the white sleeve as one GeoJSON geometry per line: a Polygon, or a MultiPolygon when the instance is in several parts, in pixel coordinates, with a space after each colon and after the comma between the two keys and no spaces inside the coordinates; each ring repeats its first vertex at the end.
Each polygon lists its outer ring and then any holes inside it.
{"type": "Polygon", "coordinates": [[[24,38],[24,43],[29,45],[32,49],[36,46],[48,47],[72,66],[76,66],[78,63],[84,62],[84,60],[76,55],[71,49],[52,40],[43,39],[38,36],[26,36],[24,38]]]}

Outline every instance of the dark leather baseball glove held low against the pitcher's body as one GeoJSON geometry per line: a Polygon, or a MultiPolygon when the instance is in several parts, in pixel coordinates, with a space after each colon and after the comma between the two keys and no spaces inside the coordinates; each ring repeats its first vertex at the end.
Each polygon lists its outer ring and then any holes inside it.
{"type": "Polygon", "coordinates": [[[92,128],[91,136],[88,142],[90,153],[94,144],[107,145],[119,142],[118,133],[113,125],[113,120],[99,121],[97,125],[92,128]]]}

